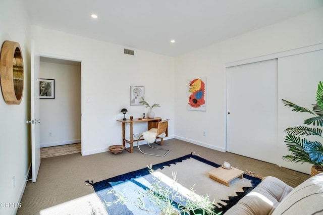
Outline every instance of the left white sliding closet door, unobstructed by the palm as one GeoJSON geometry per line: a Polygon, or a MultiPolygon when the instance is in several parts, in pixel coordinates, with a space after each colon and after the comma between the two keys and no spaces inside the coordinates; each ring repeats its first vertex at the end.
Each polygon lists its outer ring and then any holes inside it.
{"type": "Polygon", "coordinates": [[[227,151],[277,163],[277,59],[226,71],[227,151]]]}

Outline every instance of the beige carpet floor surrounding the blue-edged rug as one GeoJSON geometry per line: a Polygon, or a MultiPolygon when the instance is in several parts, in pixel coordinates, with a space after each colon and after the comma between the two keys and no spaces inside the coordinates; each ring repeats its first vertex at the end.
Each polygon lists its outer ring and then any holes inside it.
{"type": "MultiPolygon", "coordinates": [[[[143,147],[141,148],[145,149],[143,147]]],[[[43,158],[41,159],[37,182],[31,183],[29,181],[27,183],[21,200],[22,207],[18,209],[17,214],[39,214],[42,209],[76,198],[91,199],[93,198],[93,189],[91,186],[85,185],[86,180],[101,181],[145,168],[149,164],[159,164],[178,158],[191,152],[195,152],[195,154],[199,154],[218,164],[222,164],[226,160],[233,167],[254,172],[255,175],[278,177],[292,187],[310,177],[306,174],[280,168],[277,165],[229,152],[204,148],[177,139],[164,141],[163,147],[171,149],[171,152],[166,157],[144,155],[135,147],[134,153],[127,151],[120,154],[104,152],[87,156],[75,153],[43,158]]],[[[92,214],[98,214],[96,211],[97,206],[92,207],[92,214]]]]}

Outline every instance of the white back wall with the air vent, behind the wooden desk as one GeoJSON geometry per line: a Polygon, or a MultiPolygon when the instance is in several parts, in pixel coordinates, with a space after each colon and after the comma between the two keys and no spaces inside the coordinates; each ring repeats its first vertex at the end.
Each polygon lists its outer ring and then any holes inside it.
{"type": "MultiPolygon", "coordinates": [[[[170,118],[169,136],[174,136],[174,59],[134,49],[125,55],[124,46],[110,44],[58,31],[32,28],[33,38],[43,56],[78,59],[81,66],[82,154],[107,151],[122,143],[122,108],[127,118],[148,111],[130,106],[130,86],[144,86],[145,100],[159,103],[155,116],[170,118]]],[[[132,48],[130,48],[132,49],[132,48]]],[[[41,120],[41,119],[40,119],[41,120]]],[[[147,127],[136,125],[135,135],[147,127]]],[[[127,128],[129,131],[129,128],[127,128]]]]}

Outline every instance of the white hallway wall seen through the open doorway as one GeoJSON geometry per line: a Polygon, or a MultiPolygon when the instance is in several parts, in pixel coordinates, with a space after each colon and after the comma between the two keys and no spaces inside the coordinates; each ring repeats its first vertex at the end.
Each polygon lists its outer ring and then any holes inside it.
{"type": "Polygon", "coordinates": [[[81,66],[41,60],[39,70],[55,80],[55,99],[40,99],[40,147],[81,142],[81,66]]]}

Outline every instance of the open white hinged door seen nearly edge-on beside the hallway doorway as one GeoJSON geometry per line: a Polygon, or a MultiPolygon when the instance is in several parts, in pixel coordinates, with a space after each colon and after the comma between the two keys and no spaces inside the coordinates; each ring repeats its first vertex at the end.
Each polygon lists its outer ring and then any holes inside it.
{"type": "Polygon", "coordinates": [[[31,171],[32,182],[37,179],[40,167],[40,119],[39,119],[39,62],[40,57],[35,52],[35,43],[31,43],[31,171]]]}

